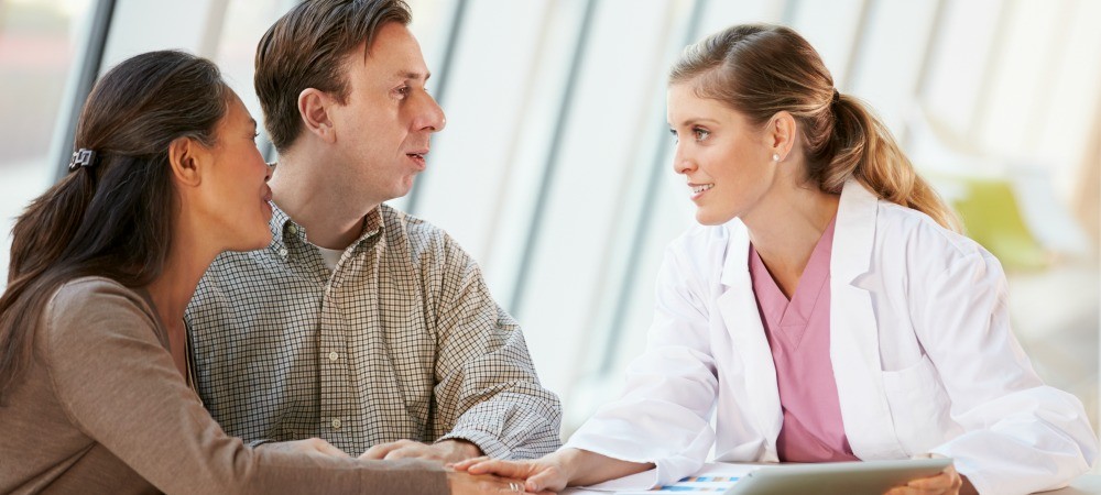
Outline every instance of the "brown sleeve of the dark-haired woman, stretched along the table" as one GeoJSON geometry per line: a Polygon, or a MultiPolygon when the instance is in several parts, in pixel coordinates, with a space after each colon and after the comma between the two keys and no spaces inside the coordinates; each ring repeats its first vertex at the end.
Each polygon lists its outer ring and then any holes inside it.
{"type": "Polygon", "coordinates": [[[133,292],[70,283],[51,300],[42,349],[59,403],[85,435],[166,493],[446,494],[430,463],[255,451],[187,388],[133,292]]]}

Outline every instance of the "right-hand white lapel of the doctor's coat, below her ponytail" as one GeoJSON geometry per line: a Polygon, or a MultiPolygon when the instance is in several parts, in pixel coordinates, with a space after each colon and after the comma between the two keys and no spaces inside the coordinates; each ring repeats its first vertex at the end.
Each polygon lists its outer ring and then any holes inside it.
{"type": "Polygon", "coordinates": [[[904,458],[883,391],[871,294],[858,286],[872,264],[877,198],[849,180],[841,193],[830,256],[830,359],[852,453],[904,458]]]}

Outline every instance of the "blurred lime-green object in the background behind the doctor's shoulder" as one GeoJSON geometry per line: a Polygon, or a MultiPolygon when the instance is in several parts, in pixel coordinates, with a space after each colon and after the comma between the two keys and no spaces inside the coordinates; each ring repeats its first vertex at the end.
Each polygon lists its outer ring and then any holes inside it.
{"type": "Polygon", "coordinates": [[[952,201],[967,235],[998,256],[1006,271],[1046,268],[1050,255],[1028,230],[1009,180],[962,178],[966,194],[952,201]]]}

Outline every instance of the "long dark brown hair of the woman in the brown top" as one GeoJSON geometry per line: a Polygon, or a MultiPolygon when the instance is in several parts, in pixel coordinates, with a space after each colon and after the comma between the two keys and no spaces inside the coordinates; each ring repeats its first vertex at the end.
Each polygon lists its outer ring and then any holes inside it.
{"type": "Polygon", "coordinates": [[[175,51],[127,59],[92,88],[74,150],[95,151],[95,162],[31,201],[12,229],[0,297],[0,405],[58,287],[91,275],[142,287],[161,274],[178,205],[168,146],[179,138],[212,146],[228,95],[214,63],[175,51]]]}

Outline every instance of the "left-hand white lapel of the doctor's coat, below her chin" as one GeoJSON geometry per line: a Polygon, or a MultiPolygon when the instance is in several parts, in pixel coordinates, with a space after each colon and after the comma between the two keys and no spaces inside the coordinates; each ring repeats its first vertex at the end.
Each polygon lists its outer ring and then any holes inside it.
{"type": "Polygon", "coordinates": [[[784,416],[780,408],[780,389],[776,386],[776,367],[772,351],[761,323],[753,284],[749,272],[749,235],[740,221],[727,224],[727,253],[720,282],[723,293],[718,298],[719,311],[730,338],[733,352],[745,364],[744,383],[749,404],[753,411],[753,426],[767,440],[768,452],[765,461],[776,459],[776,437],[783,426],[784,416]]]}

